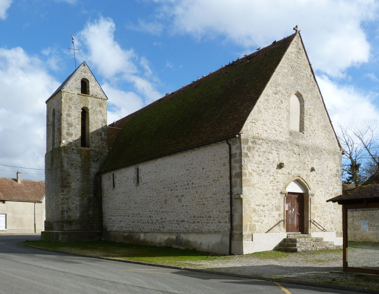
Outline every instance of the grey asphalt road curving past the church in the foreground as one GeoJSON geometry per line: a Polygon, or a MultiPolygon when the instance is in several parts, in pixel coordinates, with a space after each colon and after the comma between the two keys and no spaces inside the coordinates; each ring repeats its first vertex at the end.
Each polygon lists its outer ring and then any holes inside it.
{"type": "Polygon", "coordinates": [[[18,245],[36,235],[0,235],[0,294],[353,294],[50,252],[18,245]]]}

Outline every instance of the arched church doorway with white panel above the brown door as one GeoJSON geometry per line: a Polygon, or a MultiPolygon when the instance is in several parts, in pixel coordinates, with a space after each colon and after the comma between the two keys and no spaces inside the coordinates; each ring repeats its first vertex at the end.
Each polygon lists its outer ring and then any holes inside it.
{"type": "Polygon", "coordinates": [[[286,232],[304,233],[304,195],[307,195],[307,190],[298,180],[288,184],[285,196],[286,232]]]}

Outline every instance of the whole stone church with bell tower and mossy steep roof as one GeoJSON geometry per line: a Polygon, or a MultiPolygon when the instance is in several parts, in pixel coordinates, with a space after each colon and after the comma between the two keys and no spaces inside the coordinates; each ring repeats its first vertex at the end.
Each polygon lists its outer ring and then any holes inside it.
{"type": "Polygon", "coordinates": [[[43,240],[226,254],[342,244],[341,147],[299,31],[107,125],[83,62],[46,101],[43,240]]]}

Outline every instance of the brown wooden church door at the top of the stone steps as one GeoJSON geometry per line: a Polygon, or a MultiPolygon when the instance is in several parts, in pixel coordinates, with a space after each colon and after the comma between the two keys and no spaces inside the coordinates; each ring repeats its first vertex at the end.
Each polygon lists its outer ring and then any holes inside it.
{"type": "Polygon", "coordinates": [[[304,195],[288,192],[285,197],[285,219],[287,232],[303,232],[304,230],[304,195]]]}

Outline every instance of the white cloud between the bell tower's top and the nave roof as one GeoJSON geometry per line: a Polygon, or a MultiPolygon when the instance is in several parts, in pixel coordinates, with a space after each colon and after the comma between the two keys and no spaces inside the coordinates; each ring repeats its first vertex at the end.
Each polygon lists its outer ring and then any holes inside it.
{"type": "Polygon", "coordinates": [[[143,56],[138,56],[133,49],[122,48],[114,39],[115,30],[116,25],[112,19],[100,17],[94,23],[87,23],[78,35],[79,41],[83,41],[88,48],[90,64],[94,65],[106,80],[104,92],[109,98],[110,122],[162,97],[155,89],[156,78],[149,61],[143,56]],[[125,82],[131,85],[134,92],[118,89],[117,85],[125,82]]]}

